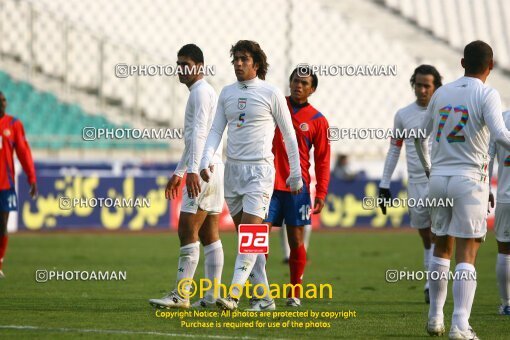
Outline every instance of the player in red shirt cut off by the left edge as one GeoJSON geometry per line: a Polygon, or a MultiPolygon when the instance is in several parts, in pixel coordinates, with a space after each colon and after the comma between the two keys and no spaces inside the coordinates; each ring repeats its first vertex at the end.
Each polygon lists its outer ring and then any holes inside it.
{"type": "Polygon", "coordinates": [[[0,92],[0,279],[4,278],[2,263],[7,249],[7,221],[9,212],[17,210],[18,199],[14,190],[14,159],[16,155],[27,174],[30,196],[37,196],[35,168],[32,154],[25,138],[25,130],[19,119],[5,113],[7,100],[0,92]]]}

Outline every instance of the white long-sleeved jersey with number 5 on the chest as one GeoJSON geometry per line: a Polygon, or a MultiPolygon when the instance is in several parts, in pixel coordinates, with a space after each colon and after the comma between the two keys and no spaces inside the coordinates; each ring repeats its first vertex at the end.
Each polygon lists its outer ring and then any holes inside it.
{"type": "Polygon", "coordinates": [[[294,127],[283,93],[263,80],[254,78],[225,86],[218,98],[218,109],[207,137],[201,169],[207,167],[213,152],[227,131],[227,158],[235,161],[273,164],[273,138],[280,128],[290,161],[291,177],[301,177],[294,127]]]}

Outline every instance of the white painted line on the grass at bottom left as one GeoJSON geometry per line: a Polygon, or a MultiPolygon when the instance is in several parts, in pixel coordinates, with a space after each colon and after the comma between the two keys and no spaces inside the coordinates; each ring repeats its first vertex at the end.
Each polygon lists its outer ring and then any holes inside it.
{"type": "Polygon", "coordinates": [[[192,335],[182,333],[162,333],[162,332],[144,332],[144,331],[122,331],[116,329],[88,329],[88,328],[47,328],[39,326],[22,326],[22,325],[0,325],[0,329],[21,329],[21,330],[40,330],[50,332],[81,332],[81,333],[99,333],[99,334],[141,334],[141,335],[158,335],[181,338],[209,338],[209,339],[258,339],[248,336],[232,337],[223,335],[192,335]]]}

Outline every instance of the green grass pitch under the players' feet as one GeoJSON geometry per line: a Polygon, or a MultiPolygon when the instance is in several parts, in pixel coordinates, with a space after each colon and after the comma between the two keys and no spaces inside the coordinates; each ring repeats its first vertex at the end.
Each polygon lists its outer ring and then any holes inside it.
{"type": "MultiPolygon", "coordinates": [[[[234,233],[223,233],[223,281],[230,283],[235,260],[234,233]]],[[[268,263],[270,283],[286,283],[278,235],[273,231],[268,263]]],[[[0,281],[0,338],[427,338],[428,306],[423,281],[387,283],[388,269],[422,270],[423,250],[415,232],[341,232],[312,234],[311,263],[305,283],[329,283],[333,299],[304,300],[301,310],[356,311],[356,318],[317,321],[330,328],[183,328],[178,319],[155,316],[149,298],[174,284],[178,257],[175,233],[158,234],[19,234],[10,238],[0,281]],[[126,281],[50,281],[37,283],[35,271],[126,271],[126,281]]],[[[510,319],[497,315],[496,245],[492,233],[477,263],[478,287],[471,325],[482,339],[510,338],[510,319]]],[[[452,263],[452,269],[454,264],[452,263]]],[[[203,253],[196,277],[203,275],[203,253]]],[[[277,300],[277,310],[289,310],[277,300]]],[[[451,283],[445,308],[452,313],[451,283]]],[[[246,299],[241,309],[246,307],[246,299]]],[[[187,318],[187,321],[252,321],[187,318]]],[[[264,319],[284,322],[305,319],[264,319]]],[[[308,319],[309,320],[309,319],[308,319]]],[[[445,336],[446,338],[447,336],[445,336]]]]}

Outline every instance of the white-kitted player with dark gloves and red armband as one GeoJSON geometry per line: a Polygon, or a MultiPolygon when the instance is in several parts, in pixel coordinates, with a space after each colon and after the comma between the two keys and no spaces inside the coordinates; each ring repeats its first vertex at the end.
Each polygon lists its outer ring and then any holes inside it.
{"type": "MultiPolygon", "coordinates": [[[[395,133],[403,133],[404,131],[415,131],[420,127],[421,121],[427,112],[430,98],[434,91],[441,84],[441,75],[434,66],[420,65],[415,70],[410,80],[411,86],[414,88],[416,100],[406,107],[397,111],[394,119],[395,133]]],[[[408,185],[407,196],[418,200],[424,200],[429,194],[429,180],[423,173],[420,159],[416,154],[414,146],[414,138],[412,139],[391,139],[390,149],[384,162],[384,171],[379,184],[379,197],[384,201],[391,200],[390,182],[393,171],[397,166],[398,158],[402,146],[406,146],[408,185]]],[[[428,155],[427,155],[428,156],[428,155]]],[[[386,205],[381,203],[381,210],[386,215],[386,205]]],[[[409,216],[411,218],[411,227],[418,229],[418,233],[423,242],[424,266],[428,270],[432,253],[434,252],[434,243],[432,232],[430,231],[430,214],[427,207],[410,207],[409,216]]],[[[425,302],[429,303],[429,282],[425,283],[424,288],[425,302]]]]}

